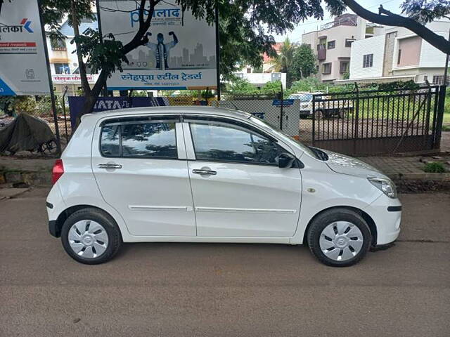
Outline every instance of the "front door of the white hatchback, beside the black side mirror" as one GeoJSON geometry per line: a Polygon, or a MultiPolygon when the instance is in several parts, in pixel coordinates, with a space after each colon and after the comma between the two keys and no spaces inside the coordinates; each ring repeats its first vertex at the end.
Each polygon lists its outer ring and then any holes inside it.
{"type": "Polygon", "coordinates": [[[183,129],[198,236],[293,236],[302,179],[278,167],[285,145],[231,119],[186,117],[183,129]]]}

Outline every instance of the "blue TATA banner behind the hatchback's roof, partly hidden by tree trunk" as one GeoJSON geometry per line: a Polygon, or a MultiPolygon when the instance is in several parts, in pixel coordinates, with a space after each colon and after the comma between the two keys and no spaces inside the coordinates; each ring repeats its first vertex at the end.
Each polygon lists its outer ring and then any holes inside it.
{"type": "MultiPolygon", "coordinates": [[[[70,125],[75,128],[75,122],[79,112],[82,111],[84,97],[70,96],[70,125]]],[[[160,107],[169,105],[165,97],[99,97],[92,112],[105,110],[127,109],[129,107],[160,107]]]]}

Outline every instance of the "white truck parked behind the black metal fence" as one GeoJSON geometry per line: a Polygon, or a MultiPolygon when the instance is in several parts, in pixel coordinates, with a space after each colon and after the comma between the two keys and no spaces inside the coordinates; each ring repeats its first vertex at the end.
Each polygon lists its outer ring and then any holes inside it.
{"type": "Polygon", "coordinates": [[[289,96],[291,100],[300,100],[300,118],[313,117],[316,119],[330,117],[345,117],[346,113],[353,112],[351,100],[331,100],[330,96],[319,91],[293,93],[289,96]],[[316,95],[316,106],[313,107],[312,98],[316,95]]]}

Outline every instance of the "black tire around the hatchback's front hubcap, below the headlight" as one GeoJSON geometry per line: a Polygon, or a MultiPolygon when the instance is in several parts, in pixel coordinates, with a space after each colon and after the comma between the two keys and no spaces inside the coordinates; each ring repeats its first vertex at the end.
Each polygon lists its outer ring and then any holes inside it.
{"type": "Polygon", "coordinates": [[[312,220],[307,232],[307,243],[311,253],[313,253],[313,255],[316,256],[321,263],[333,267],[348,267],[358,263],[362,258],[364,258],[364,256],[366,256],[366,253],[371,247],[371,242],[372,234],[366,220],[364,220],[358,213],[349,209],[330,209],[329,211],[319,214],[319,216],[316,216],[316,218],[312,220]],[[362,233],[363,244],[361,246],[361,250],[356,254],[356,256],[350,258],[349,260],[333,260],[328,258],[328,256],[326,256],[321,250],[319,239],[322,231],[326,226],[331,223],[335,223],[336,221],[347,221],[352,223],[353,225],[356,225],[362,233]]]}

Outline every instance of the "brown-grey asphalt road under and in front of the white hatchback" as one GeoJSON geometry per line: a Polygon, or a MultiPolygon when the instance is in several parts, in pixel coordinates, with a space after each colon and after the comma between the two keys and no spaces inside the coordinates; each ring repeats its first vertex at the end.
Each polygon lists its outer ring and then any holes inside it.
{"type": "Polygon", "coordinates": [[[403,232],[359,265],[302,246],[126,244],[76,263],[46,190],[0,202],[0,336],[450,336],[450,194],[404,194],[403,232]]]}

